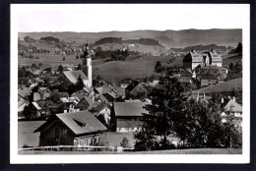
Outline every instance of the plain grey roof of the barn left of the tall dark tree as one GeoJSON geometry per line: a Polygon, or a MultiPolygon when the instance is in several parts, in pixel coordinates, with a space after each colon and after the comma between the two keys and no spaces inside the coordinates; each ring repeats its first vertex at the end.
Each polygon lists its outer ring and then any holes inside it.
{"type": "Polygon", "coordinates": [[[114,102],[115,116],[143,116],[149,112],[143,107],[149,102],[114,102]]]}

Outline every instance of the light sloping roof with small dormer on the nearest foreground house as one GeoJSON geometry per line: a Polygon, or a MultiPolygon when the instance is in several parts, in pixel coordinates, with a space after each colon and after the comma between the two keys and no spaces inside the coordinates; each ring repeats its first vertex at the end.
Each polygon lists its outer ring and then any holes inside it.
{"type": "MultiPolygon", "coordinates": [[[[107,129],[96,117],[87,110],[73,113],[56,114],[57,119],[62,121],[74,134],[83,135],[95,133],[98,131],[106,131],[107,129]],[[81,125],[83,124],[83,125],[81,125]]],[[[50,120],[37,128],[35,132],[40,132],[48,125],[50,120]]]]}

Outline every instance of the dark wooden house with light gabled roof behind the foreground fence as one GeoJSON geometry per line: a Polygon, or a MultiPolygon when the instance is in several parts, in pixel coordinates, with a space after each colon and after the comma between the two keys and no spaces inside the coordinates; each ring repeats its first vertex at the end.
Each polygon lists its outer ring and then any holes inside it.
{"type": "Polygon", "coordinates": [[[92,113],[85,110],[56,114],[33,133],[40,132],[40,146],[88,146],[99,142],[99,134],[106,130],[92,113]]]}

